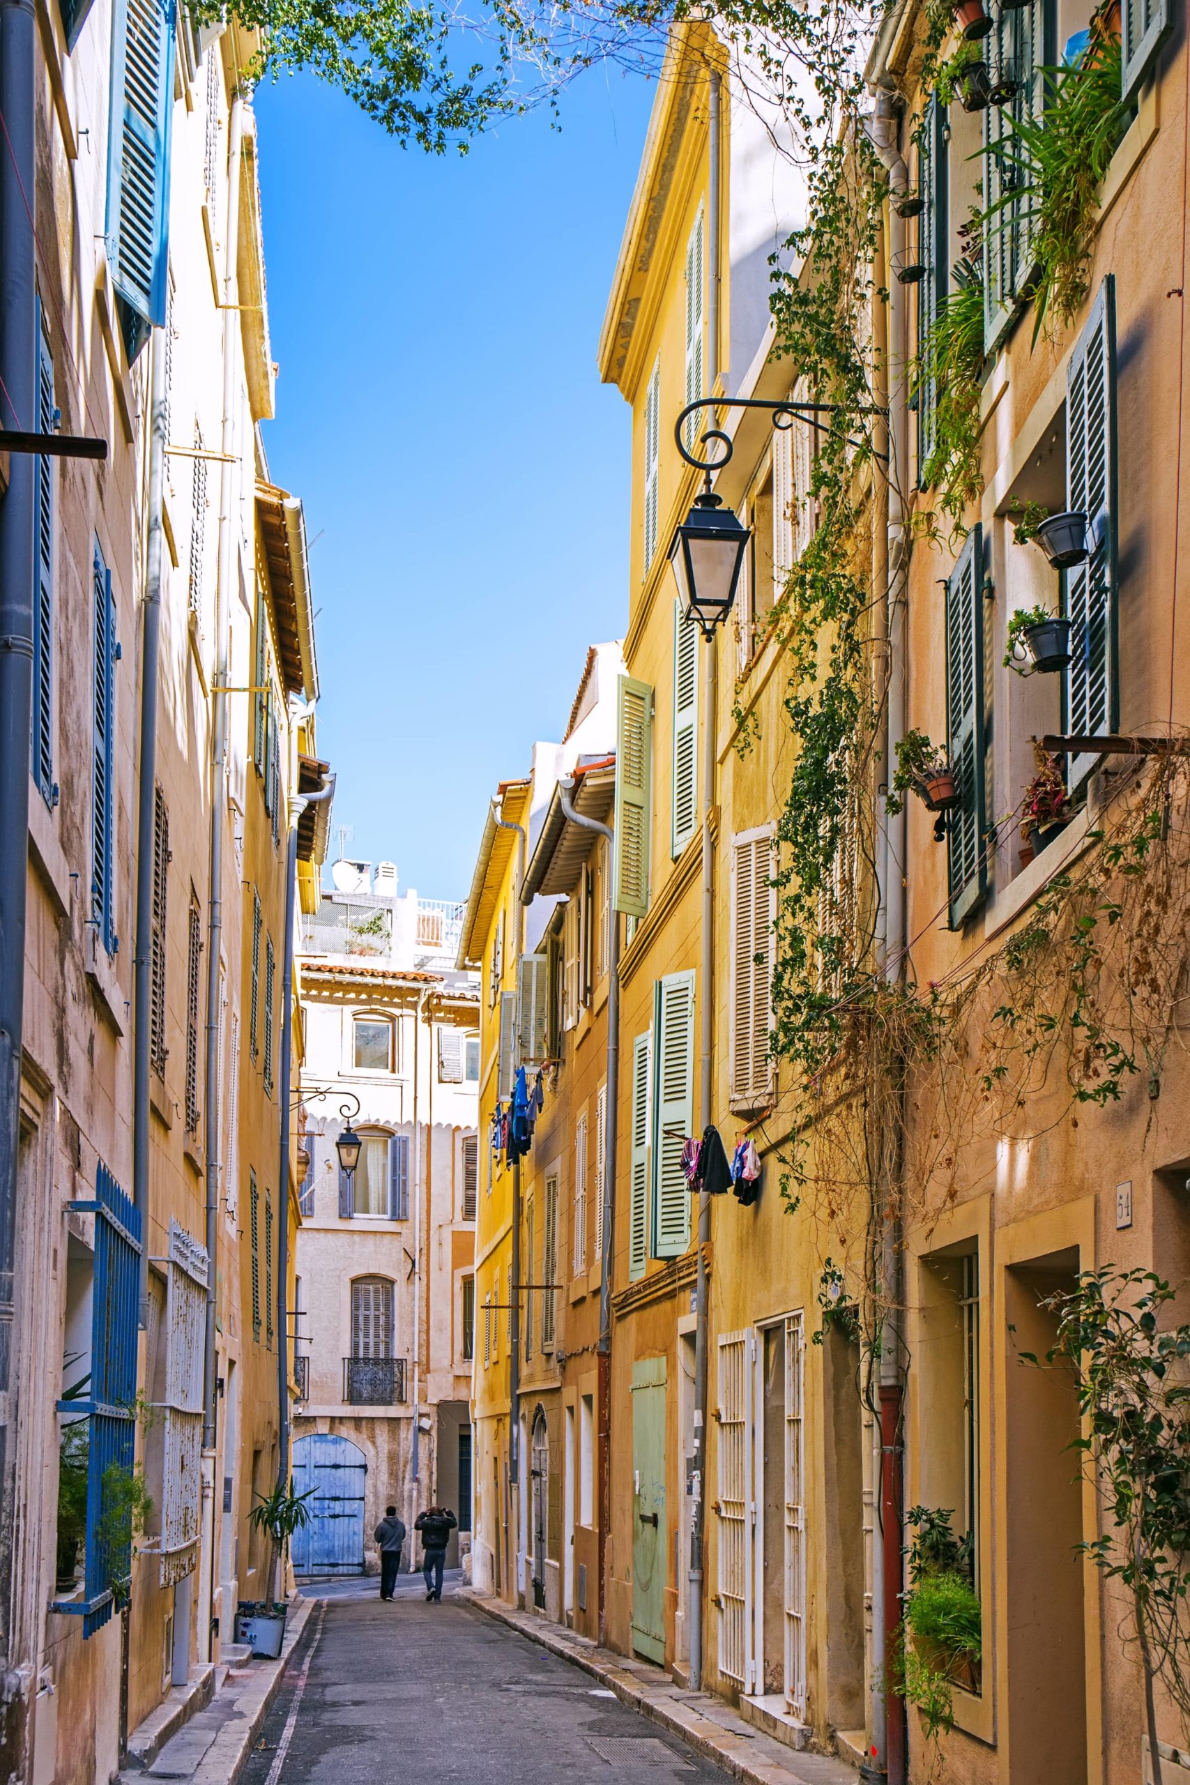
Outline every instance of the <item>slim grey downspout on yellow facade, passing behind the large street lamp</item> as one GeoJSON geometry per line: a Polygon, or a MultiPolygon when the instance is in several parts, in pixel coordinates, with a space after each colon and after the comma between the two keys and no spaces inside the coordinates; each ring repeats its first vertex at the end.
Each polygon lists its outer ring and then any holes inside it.
{"type": "MultiPolygon", "coordinates": [[[[723,154],[721,87],[717,68],[710,71],[708,114],[708,203],[707,253],[710,278],[707,282],[707,389],[715,393],[719,382],[719,261],[721,261],[721,180],[723,154]]],[[[714,1121],[714,1042],[715,1012],[712,980],[715,962],[715,857],[710,834],[715,782],[715,635],[705,639],[705,707],[703,707],[703,953],[699,985],[699,1128],[714,1121]]],[[[710,1196],[698,1196],[698,1264],[694,1280],[694,1442],[687,1458],[687,1492],[690,1494],[690,1692],[703,1689],[703,1546],[705,1546],[705,1483],[707,1483],[707,1348],[710,1307],[707,1289],[707,1248],[710,1246],[710,1196]]]]}

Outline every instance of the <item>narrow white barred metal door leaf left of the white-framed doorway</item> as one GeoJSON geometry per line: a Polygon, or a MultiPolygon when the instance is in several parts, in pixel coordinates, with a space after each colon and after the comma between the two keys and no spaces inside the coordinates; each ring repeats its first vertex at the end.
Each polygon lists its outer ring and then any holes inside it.
{"type": "Polygon", "coordinates": [[[753,1358],[751,1333],[719,1339],[719,1673],[751,1685],[753,1358]]]}

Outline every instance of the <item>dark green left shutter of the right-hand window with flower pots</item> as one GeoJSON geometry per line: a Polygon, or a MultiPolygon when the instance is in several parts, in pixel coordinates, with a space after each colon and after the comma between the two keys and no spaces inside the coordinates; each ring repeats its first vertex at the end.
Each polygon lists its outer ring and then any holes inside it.
{"type": "Polygon", "coordinates": [[[983,841],[983,528],[972,527],[946,584],[947,753],[960,803],[947,821],[951,928],[987,891],[983,841]]]}

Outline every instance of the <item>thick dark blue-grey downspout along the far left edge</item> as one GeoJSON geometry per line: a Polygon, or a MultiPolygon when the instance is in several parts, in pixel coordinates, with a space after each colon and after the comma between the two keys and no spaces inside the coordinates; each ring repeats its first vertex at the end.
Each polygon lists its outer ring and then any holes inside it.
{"type": "MultiPolygon", "coordinates": [[[[0,0],[0,377],[5,427],[37,425],[37,325],[32,0],[0,0]],[[29,200],[25,200],[29,195],[29,200]]],[[[12,1533],[16,1517],[14,1282],[16,1167],[21,1137],[25,1032],[25,898],[29,873],[29,734],[34,666],[34,487],[37,461],[9,453],[0,503],[0,1746],[23,1751],[21,1680],[12,1653],[12,1533]]],[[[36,1656],[30,1656],[30,1660],[36,1656]]],[[[18,1762],[20,1765],[20,1762],[18,1762]]]]}

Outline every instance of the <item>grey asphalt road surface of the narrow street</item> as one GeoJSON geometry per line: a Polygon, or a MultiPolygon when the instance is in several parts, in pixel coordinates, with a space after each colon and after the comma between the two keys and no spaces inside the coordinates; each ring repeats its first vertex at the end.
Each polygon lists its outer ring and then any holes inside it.
{"type": "Polygon", "coordinates": [[[403,1574],[325,1594],[244,1785],[708,1785],[728,1778],[526,1637],[403,1574]]]}

